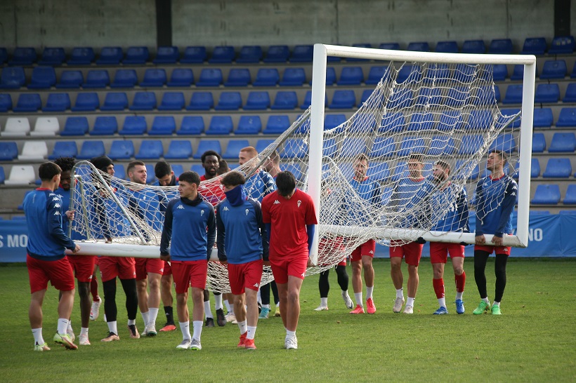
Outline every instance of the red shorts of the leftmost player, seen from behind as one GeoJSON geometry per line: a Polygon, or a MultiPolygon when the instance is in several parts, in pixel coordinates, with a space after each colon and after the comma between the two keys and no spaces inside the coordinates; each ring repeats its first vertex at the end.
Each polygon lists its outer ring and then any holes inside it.
{"type": "Polygon", "coordinates": [[[30,293],[48,288],[48,281],[57,290],[74,290],[74,271],[67,257],[57,261],[42,261],[26,255],[26,267],[30,278],[30,293]]]}

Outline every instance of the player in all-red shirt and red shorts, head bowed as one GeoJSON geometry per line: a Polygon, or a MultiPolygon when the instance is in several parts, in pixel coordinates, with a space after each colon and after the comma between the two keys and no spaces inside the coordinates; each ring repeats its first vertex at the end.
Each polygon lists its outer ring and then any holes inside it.
{"type": "Polygon", "coordinates": [[[262,218],[270,237],[270,267],[278,287],[286,349],[297,349],[296,328],[300,316],[300,289],[318,224],[312,198],[296,189],[290,172],[276,177],[278,189],[262,200],[262,218]]]}

